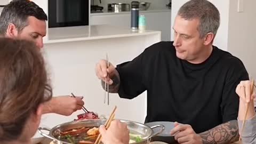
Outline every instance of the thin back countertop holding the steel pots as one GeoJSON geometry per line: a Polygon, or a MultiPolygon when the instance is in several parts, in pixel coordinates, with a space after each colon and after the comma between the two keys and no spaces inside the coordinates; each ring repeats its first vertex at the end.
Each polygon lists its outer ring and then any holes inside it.
{"type": "MultiPolygon", "coordinates": [[[[150,12],[171,12],[171,9],[139,11],[139,13],[150,13],[150,12]]],[[[112,15],[112,14],[125,14],[125,13],[131,13],[131,11],[128,11],[128,12],[108,12],[106,10],[103,10],[102,12],[93,12],[93,13],[91,13],[91,15],[112,15]]]]}

